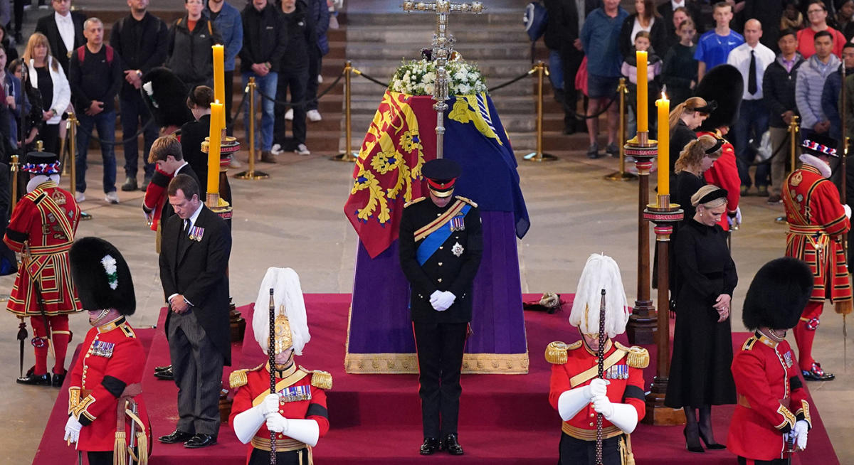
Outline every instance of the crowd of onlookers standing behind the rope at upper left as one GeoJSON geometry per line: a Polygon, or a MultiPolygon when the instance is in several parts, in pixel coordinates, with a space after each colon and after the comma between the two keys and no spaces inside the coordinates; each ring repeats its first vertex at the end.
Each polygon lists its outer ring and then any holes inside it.
{"type": "MultiPolygon", "coordinates": [[[[116,21],[108,38],[98,18],[74,11],[71,0],[47,0],[52,13],[38,19],[35,32],[21,34],[24,9],[34,5],[0,0],[0,161],[26,153],[37,141],[44,150],[59,154],[65,144],[67,113],[79,120],[76,138],[76,192],[85,200],[86,155],[93,131],[100,139],[104,174],[102,188],[108,203],[118,203],[114,154],[116,116],[120,116],[125,154],[122,190],[145,188],[155,172],[149,150],[158,136],[149,106],[140,88],[143,76],[167,67],[186,86],[213,87],[211,46],[225,50],[226,125],[231,132],[233,81],[240,59],[243,86],[254,77],[262,118],[256,159],[274,163],[285,150],[310,154],[306,121],[319,121],[317,93],[323,55],[329,51],[326,30],[333,0],[247,0],[231,5],[225,0],[184,0],[186,12],[167,25],[149,12],[149,0],[128,0],[130,14],[116,21]],[[20,3],[20,5],[19,5],[20,3]],[[19,15],[20,6],[20,15],[19,15]],[[26,8],[25,8],[26,7],[26,8]],[[242,8],[242,10],[237,9],[242,8]],[[18,57],[15,43],[23,49],[18,57]],[[275,99],[274,102],[272,99],[275,99]],[[286,121],[288,121],[286,123],[286,121]],[[290,125],[290,136],[287,135],[290,125]],[[137,184],[139,150],[143,136],[143,179],[137,184]]],[[[340,4],[338,5],[340,7],[340,4]]],[[[39,0],[38,8],[47,8],[39,0]]],[[[249,105],[245,116],[249,116],[249,105]]],[[[248,127],[248,124],[245,125],[248,127]]],[[[121,142],[121,141],[120,141],[121,142]]],[[[232,162],[239,166],[237,160],[232,162]]]]}

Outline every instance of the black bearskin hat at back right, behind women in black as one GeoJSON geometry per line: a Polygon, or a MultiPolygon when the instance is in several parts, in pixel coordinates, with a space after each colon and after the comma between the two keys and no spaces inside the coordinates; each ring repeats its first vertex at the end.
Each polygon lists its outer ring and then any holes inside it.
{"type": "Polygon", "coordinates": [[[721,126],[735,125],[744,88],[744,78],[732,65],[718,65],[705,73],[694,90],[694,96],[703,97],[706,102],[714,100],[717,108],[699,126],[699,131],[715,131],[721,126]]]}

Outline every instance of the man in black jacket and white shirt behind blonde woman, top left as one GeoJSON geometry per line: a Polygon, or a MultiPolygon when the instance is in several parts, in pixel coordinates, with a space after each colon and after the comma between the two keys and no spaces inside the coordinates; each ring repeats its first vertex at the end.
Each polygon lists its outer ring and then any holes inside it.
{"type": "Polygon", "coordinates": [[[86,16],[71,11],[71,0],[51,0],[54,12],[38,19],[36,32],[43,33],[50,44],[50,55],[54,55],[68,76],[68,60],[74,49],[86,44],[83,37],[83,21],[86,16]]]}

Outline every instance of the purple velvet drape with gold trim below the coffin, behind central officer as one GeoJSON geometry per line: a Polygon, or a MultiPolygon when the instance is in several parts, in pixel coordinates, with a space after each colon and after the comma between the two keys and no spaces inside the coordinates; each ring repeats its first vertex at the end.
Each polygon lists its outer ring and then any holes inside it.
{"type": "MultiPolygon", "coordinates": [[[[472,289],[468,353],[524,353],[525,323],[513,212],[480,212],[483,259],[472,289]]],[[[397,241],[371,259],[359,244],[349,328],[349,353],[414,353],[409,282],[397,241]]]]}

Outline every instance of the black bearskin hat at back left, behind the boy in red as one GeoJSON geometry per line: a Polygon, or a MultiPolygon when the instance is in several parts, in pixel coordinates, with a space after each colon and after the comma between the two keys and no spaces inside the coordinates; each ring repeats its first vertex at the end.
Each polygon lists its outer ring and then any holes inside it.
{"type": "Polygon", "coordinates": [[[165,67],[155,67],[143,75],[140,87],[145,105],[155,115],[155,122],[161,127],[184,125],[193,121],[193,113],[187,108],[187,95],[190,90],[178,75],[165,67]]]}

